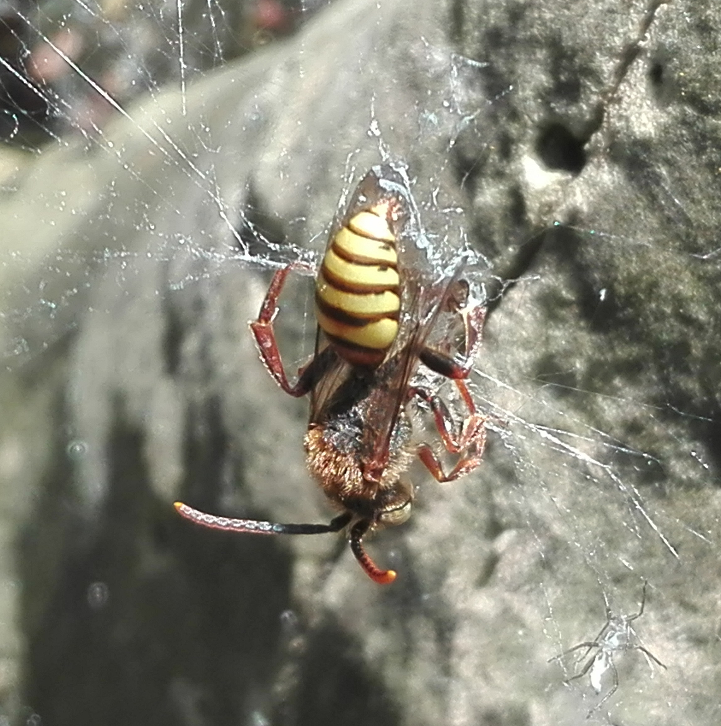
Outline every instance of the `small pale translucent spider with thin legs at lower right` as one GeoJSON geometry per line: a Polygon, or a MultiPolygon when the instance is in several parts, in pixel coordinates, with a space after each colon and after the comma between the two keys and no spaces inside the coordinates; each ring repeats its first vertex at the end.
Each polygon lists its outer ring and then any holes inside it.
{"type": "Polygon", "coordinates": [[[633,640],[637,639],[637,635],[635,630],[631,627],[631,623],[643,615],[643,608],[646,602],[647,585],[648,581],[643,583],[641,606],[638,613],[635,613],[635,615],[624,616],[614,615],[611,613],[611,607],[608,605],[608,598],[604,593],[603,602],[606,603],[606,624],[600,629],[598,635],[593,640],[587,640],[584,643],[574,645],[574,647],[569,648],[569,650],[564,650],[563,653],[550,658],[548,661],[549,663],[553,663],[553,661],[560,661],[561,658],[567,656],[569,653],[573,653],[574,650],[585,648],[585,653],[583,653],[583,655],[579,658],[579,661],[582,661],[586,658],[586,656],[588,656],[592,648],[598,648],[595,654],[588,658],[583,668],[577,674],[564,681],[564,683],[568,684],[571,681],[577,680],[577,678],[584,677],[584,675],[590,671],[589,680],[592,688],[596,693],[600,693],[602,690],[601,679],[603,674],[609,669],[614,674],[614,685],[611,687],[611,690],[609,690],[608,693],[606,693],[606,695],[603,696],[603,698],[601,698],[601,700],[593,706],[590,711],[588,711],[586,716],[587,719],[592,716],[594,711],[598,711],[598,709],[600,709],[600,707],[603,706],[603,704],[606,703],[606,701],[608,701],[608,699],[611,698],[611,696],[613,696],[619,688],[619,673],[614,665],[614,653],[619,653],[624,650],[640,650],[641,653],[646,656],[647,660],[650,658],[651,661],[661,666],[661,668],[666,668],[666,666],[664,666],[664,664],[661,663],[661,661],[659,661],[653,653],[644,648],[643,645],[633,642],[633,640]]]}

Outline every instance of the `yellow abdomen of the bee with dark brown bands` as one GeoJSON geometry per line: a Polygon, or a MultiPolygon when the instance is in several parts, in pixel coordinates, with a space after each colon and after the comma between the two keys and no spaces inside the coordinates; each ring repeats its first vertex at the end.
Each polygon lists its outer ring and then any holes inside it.
{"type": "Polygon", "coordinates": [[[377,366],[398,333],[396,237],[388,205],[352,216],[323,258],[315,290],[318,325],[353,365],[377,366]]]}

